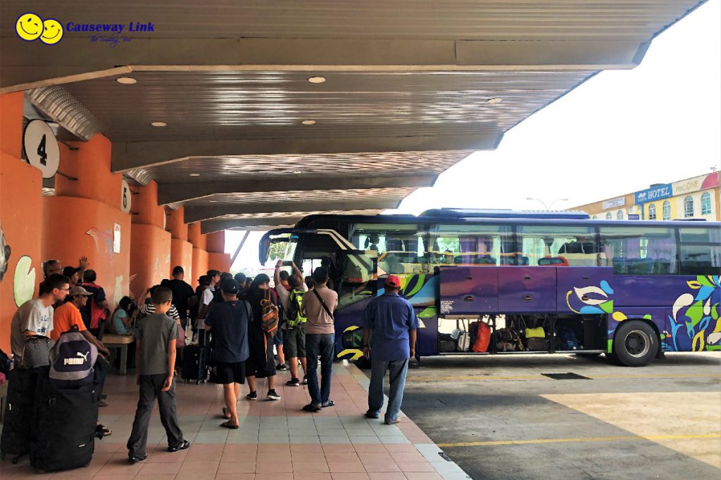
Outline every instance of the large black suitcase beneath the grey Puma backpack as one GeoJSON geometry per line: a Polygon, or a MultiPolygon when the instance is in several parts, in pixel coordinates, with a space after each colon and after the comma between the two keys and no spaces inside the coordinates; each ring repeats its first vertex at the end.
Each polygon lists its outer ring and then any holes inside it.
{"type": "Polygon", "coordinates": [[[38,472],[87,466],[98,435],[99,391],[93,384],[75,389],[56,389],[45,378],[37,384],[35,441],[30,465],[38,472]]]}

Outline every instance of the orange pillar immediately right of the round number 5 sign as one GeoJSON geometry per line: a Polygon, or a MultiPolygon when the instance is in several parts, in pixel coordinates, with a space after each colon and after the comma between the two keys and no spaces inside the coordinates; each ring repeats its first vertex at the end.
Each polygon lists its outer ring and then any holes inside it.
{"type": "Polygon", "coordinates": [[[170,277],[170,232],[163,229],[165,209],[158,205],[158,184],[132,187],[130,291],[138,298],[170,277]]]}

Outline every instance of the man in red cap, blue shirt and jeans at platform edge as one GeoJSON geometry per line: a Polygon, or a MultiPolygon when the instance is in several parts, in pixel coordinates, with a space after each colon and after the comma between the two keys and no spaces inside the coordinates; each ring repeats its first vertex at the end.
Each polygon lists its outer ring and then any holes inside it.
{"type": "Polygon", "coordinates": [[[385,293],[371,300],[363,311],[363,353],[371,357],[371,388],[368,389],[366,417],[378,418],[383,407],[383,379],[390,372],[391,389],[388,394],[385,422],[399,423],[398,412],[403,402],[408,361],[415,356],[418,319],[413,306],[398,295],[400,279],[391,275],[386,279],[385,293]],[[368,340],[373,334],[373,354],[368,340]]]}

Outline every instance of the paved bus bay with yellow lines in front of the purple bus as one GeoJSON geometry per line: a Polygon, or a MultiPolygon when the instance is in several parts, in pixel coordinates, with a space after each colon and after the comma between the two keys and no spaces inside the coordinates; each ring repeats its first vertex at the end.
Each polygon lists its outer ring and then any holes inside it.
{"type": "Polygon", "coordinates": [[[404,412],[473,479],[721,474],[721,355],[645,368],[603,356],[424,358],[404,412]],[[554,380],[542,373],[589,379],[554,380]]]}

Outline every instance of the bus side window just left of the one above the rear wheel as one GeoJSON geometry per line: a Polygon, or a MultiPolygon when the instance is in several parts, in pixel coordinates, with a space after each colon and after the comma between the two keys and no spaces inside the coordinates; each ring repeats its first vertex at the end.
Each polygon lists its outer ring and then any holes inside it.
{"type": "Polygon", "coordinates": [[[592,227],[519,226],[518,247],[529,266],[598,265],[596,232],[592,227]]]}

